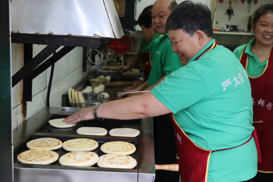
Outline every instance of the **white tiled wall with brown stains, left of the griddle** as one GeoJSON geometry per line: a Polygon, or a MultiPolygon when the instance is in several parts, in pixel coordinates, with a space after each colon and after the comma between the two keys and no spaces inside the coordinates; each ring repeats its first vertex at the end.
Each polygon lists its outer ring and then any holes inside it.
{"type": "MultiPolygon", "coordinates": [[[[37,55],[46,45],[33,45],[33,56],[37,55]]],[[[62,48],[62,47],[61,47],[62,48]]],[[[59,48],[58,50],[60,50],[59,48]]],[[[57,51],[58,51],[57,50],[57,51]]],[[[86,72],[82,72],[82,47],[75,47],[63,58],[55,63],[53,81],[50,93],[50,106],[61,107],[61,96],[69,87],[76,85],[86,72]]],[[[23,66],[23,44],[12,44],[12,73],[16,73],[23,66]]],[[[12,89],[13,130],[21,126],[25,120],[46,107],[46,95],[51,67],[33,79],[32,102],[27,102],[26,118],[22,116],[23,84],[19,82],[12,89]]]]}

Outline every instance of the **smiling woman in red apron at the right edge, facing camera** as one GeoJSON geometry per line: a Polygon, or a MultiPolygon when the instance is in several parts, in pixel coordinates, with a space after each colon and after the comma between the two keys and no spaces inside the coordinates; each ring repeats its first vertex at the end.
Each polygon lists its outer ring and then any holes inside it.
{"type": "Polygon", "coordinates": [[[253,126],[257,129],[262,162],[255,182],[273,181],[273,4],[264,4],[254,13],[255,38],[233,53],[250,79],[253,99],[253,126]]]}

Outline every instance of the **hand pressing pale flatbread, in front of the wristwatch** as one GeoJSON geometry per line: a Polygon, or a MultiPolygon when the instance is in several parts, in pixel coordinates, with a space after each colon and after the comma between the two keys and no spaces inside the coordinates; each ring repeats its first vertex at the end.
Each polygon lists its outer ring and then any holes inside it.
{"type": "Polygon", "coordinates": [[[85,120],[94,120],[93,108],[84,108],[63,120],[64,123],[74,124],[85,120]]]}

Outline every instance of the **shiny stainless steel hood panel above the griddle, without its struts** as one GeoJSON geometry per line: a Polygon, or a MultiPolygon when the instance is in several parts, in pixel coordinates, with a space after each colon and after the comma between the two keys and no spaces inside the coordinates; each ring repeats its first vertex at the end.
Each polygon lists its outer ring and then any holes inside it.
{"type": "Polygon", "coordinates": [[[113,0],[11,0],[12,33],[121,38],[113,0]]]}

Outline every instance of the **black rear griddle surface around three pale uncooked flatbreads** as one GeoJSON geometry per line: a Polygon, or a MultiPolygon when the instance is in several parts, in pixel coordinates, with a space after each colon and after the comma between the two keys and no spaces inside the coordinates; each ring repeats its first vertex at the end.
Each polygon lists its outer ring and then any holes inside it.
{"type": "Polygon", "coordinates": [[[52,117],[46,120],[44,124],[41,125],[41,127],[36,130],[36,132],[77,135],[76,130],[80,127],[102,127],[108,131],[106,136],[109,136],[109,131],[114,128],[133,128],[137,130],[140,130],[141,128],[141,119],[137,119],[137,120],[104,119],[102,121],[88,120],[88,121],[81,121],[77,123],[76,126],[73,126],[71,128],[56,128],[51,126],[48,123],[49,120],[53,120],[57,118],[66,118],[66,117],[67,115],[52,115],[52,117]]]}

